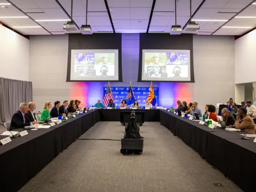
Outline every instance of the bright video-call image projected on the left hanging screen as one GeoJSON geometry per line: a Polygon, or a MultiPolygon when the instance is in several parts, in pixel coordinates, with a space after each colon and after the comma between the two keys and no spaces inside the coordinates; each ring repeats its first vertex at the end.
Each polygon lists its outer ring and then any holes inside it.
{"type": "Polygon", "coordinates": [[[70,80],[118,80],[118,50],[71,50],[70,80]]]}

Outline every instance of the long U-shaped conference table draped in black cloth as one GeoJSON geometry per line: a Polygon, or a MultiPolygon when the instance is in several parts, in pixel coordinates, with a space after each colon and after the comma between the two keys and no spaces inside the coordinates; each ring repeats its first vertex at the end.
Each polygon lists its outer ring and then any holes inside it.
{"type": "MultiPolygon", "coordinates": [[[[5,191],[18,191],[60,152],[99,121],[120,121],[120,109],[87,110],[65,123],[36,131],[27,130],[23,137],[0,145],[0,183],[5,191]]],[[[125,111],[132,111],[127,109],[125,111]]],[[[242,140],[240,132],[211,129],[197,121],[182,118],[167,110],[145,111],[145,121],[160,122],[171,133],[197,151],[208,163],[219,169],[242,190],[254,188],[256,143],[254,137],[242,140]],[[247,162],[250,162],[247,163],[247,162]]],[[[13,131],[23,131],[15,129],[13,131]]],[[[0,139],[6,136],[0,136],[0,139]]],[[[146,138],[145,138],[146,139],[146,138]]]]}

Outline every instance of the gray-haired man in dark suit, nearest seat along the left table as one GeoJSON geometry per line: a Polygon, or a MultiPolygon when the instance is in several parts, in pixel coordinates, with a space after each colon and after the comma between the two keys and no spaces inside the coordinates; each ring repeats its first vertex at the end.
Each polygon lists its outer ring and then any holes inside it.
{"type": "Polygon", "coordinates": [[[39,121],[31,122],[29,120],[29,115],[27,114],[27,110],[28,110],[27,103],[21,103],[19,105],[19,110],[16,113],[14,113],[12,117],[9,130],[13,130],[16,128],[24,128],[25,126],[31,126],[39,123],[39,121]]]}

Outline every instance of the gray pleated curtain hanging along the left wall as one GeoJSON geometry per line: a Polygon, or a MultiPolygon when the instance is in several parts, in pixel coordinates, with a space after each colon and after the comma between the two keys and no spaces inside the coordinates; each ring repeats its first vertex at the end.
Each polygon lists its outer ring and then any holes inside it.
{"type": "Polygon", "coordinates": [[[32,82],[0,78],[0,122],[10,121],[19,104],[32,99],[32,82]]]}

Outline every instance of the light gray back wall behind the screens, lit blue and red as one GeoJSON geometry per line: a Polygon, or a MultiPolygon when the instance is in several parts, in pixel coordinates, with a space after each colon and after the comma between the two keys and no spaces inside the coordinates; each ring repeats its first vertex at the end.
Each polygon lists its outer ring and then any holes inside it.
{"type": "MultiPolygon", "coordinates": [[[[103,98],[105,82],[66,82],[68,41],[67,35],[30,37],[29,81],[33,82],[38,110],[46,101],[78,99],[90,106],[103,98]]],[[[112,87],[129,86],[131,78],[133,87],[149,87],[148,83],[137,82],[138,42],[138,34],[122,36],[123,82],[112,82],[112,87]],[[131,64],[134,70],[128,69],[131,64]]],[[[216,105],[234,98],[234,37],[194,35],[193,52],[196,82],[153,83],[160,89],[160,105],[170,107],[177,100],[197,101],[204,110],[206,104],[216,105]]]]}

